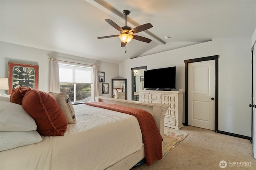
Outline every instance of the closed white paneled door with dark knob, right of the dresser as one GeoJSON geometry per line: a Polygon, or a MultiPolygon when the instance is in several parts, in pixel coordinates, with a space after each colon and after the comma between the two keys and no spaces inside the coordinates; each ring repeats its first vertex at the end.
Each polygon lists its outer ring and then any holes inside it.
{"type": "Polygon", "coordinates": [[[215,61],[188,63],[188,125],[214,130],[215,61]]]}

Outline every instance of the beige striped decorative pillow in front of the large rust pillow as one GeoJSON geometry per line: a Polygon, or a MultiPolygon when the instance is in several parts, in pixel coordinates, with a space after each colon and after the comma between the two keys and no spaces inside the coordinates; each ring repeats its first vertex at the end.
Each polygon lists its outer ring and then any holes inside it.
{"type": "Polygon", "coordinates": [[[71,101],[69,100],[68,95],[65,92],[60,93],[54,93],[49,92],[50,95],[52,95],[55,100],[58,102],[60,108],[62,109],[62,112],[64,113],[68,124],[75,124],[76,123],[76,115],[74,107],[72,106],[71,101]]]}

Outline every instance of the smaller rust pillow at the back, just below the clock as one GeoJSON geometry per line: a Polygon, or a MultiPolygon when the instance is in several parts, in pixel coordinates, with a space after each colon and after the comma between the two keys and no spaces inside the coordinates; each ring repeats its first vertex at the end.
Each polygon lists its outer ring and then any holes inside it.
{"type": "Polygon", "coordinates": [[[16,89],[12,89],[10,102],[22,105],[22,99],[28,89],[28,87],[18,87],[16,89]]]}

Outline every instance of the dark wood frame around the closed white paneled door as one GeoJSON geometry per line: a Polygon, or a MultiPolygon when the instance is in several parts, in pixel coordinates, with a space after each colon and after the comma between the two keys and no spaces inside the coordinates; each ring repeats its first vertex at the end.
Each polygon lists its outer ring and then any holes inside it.
{"type": "Polygon", "coordinates": [[[200,61],[215,61],[215,104],[214,104],[214,131],[218,132],[218,58],[219,55],[213,55],[209,57],[201,57],[197,59],[184,60],[185,63],[185,123],[188,125],[188,64],[200,61]]]}

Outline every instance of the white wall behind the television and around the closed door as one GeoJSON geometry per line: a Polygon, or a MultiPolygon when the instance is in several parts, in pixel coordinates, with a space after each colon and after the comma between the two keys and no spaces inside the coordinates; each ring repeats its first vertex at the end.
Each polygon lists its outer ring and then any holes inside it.
{"type": "MultiPolygon", "coordinates": [[[[251,136],[251,38],[213,39],[191,45],[128,59],[119,64],[120,76],[131,84],[131,68],[147,69],[176,66],[176,90],[185,89],[184,60],[219,55],[218,130],[251,136]]],[[[131,100],[128,86],[128,100],[131,100]]],[[[183,113],[184,122],[184,113],[183,113]]]]}

